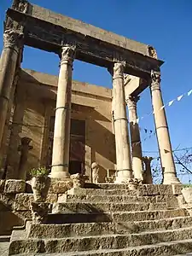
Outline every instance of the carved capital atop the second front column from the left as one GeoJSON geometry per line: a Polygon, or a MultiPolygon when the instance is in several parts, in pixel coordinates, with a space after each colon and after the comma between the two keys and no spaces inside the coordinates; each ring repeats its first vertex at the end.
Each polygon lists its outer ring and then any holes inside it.
{"type": "Polygon", "coordinates": [[[61,48],[61,64],[73,65],[75,58],[75,45],[65,45],[61,48]]]}

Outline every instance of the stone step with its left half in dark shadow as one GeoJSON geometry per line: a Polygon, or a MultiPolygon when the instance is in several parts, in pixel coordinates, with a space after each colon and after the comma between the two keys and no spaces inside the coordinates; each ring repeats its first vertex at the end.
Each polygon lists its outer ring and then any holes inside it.
{"type": "Polygon", "coordinates": [[[50,213],[47,224],[127,222],[189,216],[186,209],[140,212],[50,213]]]}

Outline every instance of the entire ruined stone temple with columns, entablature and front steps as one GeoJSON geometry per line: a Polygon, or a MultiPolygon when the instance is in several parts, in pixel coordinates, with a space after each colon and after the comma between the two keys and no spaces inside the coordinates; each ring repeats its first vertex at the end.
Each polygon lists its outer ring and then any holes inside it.
{"type": "Polygon", "coordinates": [[[154,47],[26,0],[7,10],[3,42],[0,254],[191,252],[191,194],[177,178],[162,108],[163,61],[154,47]],[[58,55],[59,76],[22,69],[25,45],[58,55]],[[73,81],[75,59],[105,67],[112,89],[73,81]],[[153,184],[137,124],[147,88],[160,185],[153,184]]]}

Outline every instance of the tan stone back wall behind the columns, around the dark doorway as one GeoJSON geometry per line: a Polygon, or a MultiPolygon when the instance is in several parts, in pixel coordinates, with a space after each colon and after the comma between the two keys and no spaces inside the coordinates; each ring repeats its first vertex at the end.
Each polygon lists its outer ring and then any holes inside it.
{"type": "MultiPolygon", "coordinates": [[[[32,70],[21,73],[20,93],[26,94],[22,102],[24,114],[15,125],[22,124],[19,136],[32,138],[28,170],[45,165],[49,157],[49,125],[50,117],[55,115],[57,80],[32,70]]],[[[107,169],[113,169],[115,163],[111,94],[102,86],[73,81],[72,119],[85,120],[85,173],[90,175],[90,164],[96,161],[101,166],[100,182],[104,182],[107,169]]]]}

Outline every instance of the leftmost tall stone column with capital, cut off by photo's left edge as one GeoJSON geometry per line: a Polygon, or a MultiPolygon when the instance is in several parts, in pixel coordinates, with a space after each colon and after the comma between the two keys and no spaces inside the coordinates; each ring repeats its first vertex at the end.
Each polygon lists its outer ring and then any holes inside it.
{"type": "Polygon", "coordinates": [[[22,38],[22,33],[19,34],[11,29],[3,33],[4,47],[0,60],[0,147],[22,38]]]}

